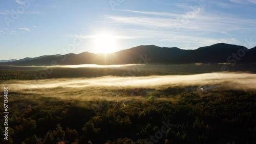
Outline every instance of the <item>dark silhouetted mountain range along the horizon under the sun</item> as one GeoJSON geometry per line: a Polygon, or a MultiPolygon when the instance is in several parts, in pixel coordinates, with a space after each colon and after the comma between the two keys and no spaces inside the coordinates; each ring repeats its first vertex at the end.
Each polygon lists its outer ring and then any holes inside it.
{"type": "Polygon", "coordinates": [[[199,47],[196,50],[182,50],[178,47],[159,47],[140,45],[110,54],[80,54],[40,56],[16,61],[0,61],[0,65],[76,65],[76,64],[138,64],[145,62],[163,64],[182,63],[254,63],[256,46],[247,49],[244,46],[217,43],[199,47]]]}

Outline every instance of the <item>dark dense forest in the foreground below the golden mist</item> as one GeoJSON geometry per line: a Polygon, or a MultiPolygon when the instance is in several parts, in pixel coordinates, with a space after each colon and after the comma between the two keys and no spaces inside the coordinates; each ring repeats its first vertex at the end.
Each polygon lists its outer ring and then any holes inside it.
{"type": "Polygon", "coordinates": [[[256,91],[124,92],[144,99],[123,103],[107,95],[83,102],[10,92],[10,137],[1,143],[256,142],[256,91]]]}

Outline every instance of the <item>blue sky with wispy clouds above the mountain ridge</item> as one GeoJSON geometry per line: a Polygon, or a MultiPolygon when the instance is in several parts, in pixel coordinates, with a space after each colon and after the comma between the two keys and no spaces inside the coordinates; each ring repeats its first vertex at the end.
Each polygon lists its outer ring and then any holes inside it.
{"type": "Polygon", "coordinates": [[[251,48],[255,13],[256,0],[2,0],[0,60],[98,53],[95,39],[102,33],[114,39],[112,51],[147,44],[197,49],[219,42],[251,48]]]}

